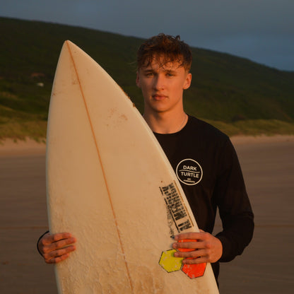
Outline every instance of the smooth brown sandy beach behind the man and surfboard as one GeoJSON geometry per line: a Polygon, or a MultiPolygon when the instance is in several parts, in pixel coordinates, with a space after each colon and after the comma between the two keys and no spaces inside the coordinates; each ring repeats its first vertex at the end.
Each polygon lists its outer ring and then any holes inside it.
{"type": "MultiPolygon", "coordinates": [[[[242,256],[221,264],[220,293],[293,293],[294,136],[237,136],[232,141],[256,228],[242,256]]],[[[45,143],[2,141],[0,293],[57,293],[54,267],[35,247],[47,230],[45,184],[45,143]]]]}

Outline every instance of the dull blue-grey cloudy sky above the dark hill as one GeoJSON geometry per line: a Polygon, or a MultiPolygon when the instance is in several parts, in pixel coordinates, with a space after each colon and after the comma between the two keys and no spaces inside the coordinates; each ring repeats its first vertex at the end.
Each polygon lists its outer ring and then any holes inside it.
{"type": "Polygon", "coordinates": [[[180,35],[212,49],[294,71],[294,0],[0,0],[0,16],[134,37],[180,35]]]}

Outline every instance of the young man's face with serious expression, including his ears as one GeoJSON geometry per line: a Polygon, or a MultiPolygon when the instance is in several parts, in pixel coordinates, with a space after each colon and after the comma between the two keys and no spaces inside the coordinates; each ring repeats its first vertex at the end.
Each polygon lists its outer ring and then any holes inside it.
{"type": "Polygon", "coordinates": [[[145,112],[182,110],[183,90],[191,85],[192,75],[178,62],[161,64],[153,59],[148,66],[139,69],[136,85],[141,88],[145,112]]]}

